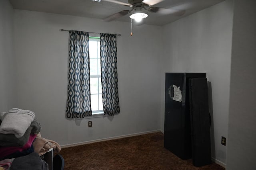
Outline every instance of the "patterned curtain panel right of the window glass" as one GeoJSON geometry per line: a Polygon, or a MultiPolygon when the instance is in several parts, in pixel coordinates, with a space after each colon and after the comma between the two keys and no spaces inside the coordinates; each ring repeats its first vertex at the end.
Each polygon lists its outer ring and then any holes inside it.
{"type": "Polygon", "coordinates": [[[101,33],[100,58],[104,115],[114,115],[120,112],[116,52],[116,35],[101,33]]]}

